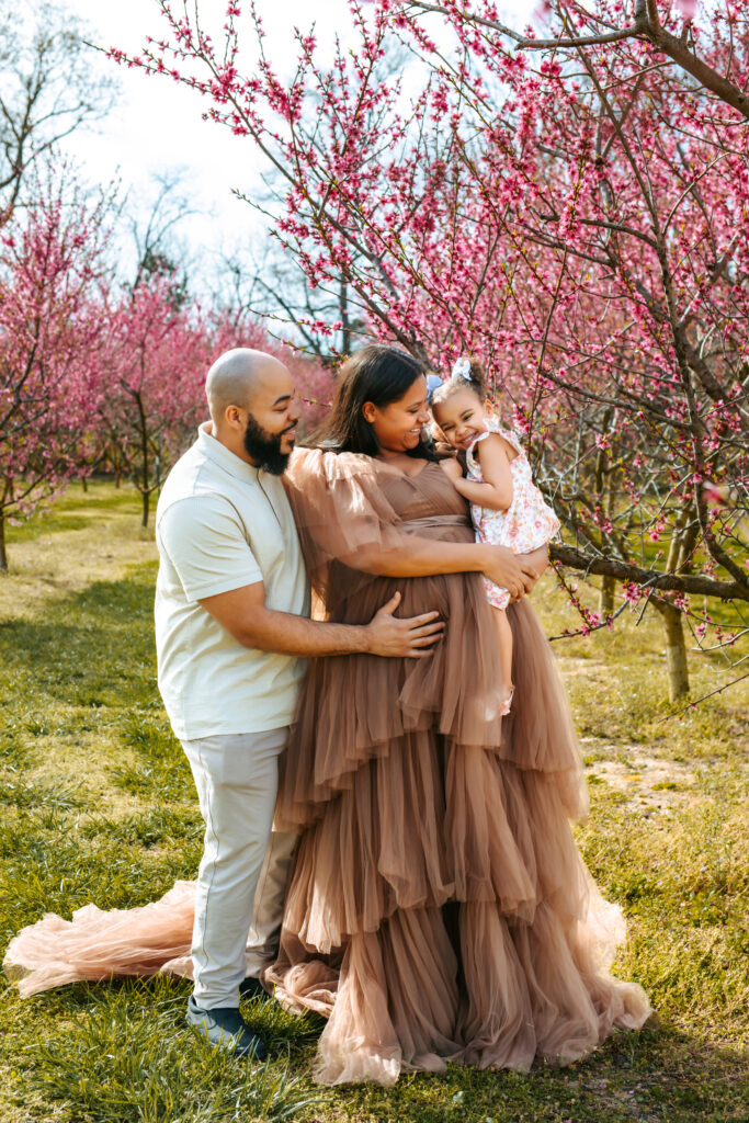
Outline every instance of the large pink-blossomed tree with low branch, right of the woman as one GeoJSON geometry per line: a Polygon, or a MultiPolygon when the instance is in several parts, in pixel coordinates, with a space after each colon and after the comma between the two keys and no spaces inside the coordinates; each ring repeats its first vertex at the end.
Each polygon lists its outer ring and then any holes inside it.
{"type": "Polygon", "coordinates": [[[685,627],[736,658],[749,0],[548,3],[526,33],[487,0],[351,0],[354,45],[323,65],[296,31],[290,76],[253,6],[243,73],[247,6],[211,38],[200,6],[157,2],[163,39],[113,56],[193,88],[265,157],[285,183],[275,234],[310,285],[342,281],[373,336],[438,371],[463,350],[485,362],[563,521],[552,556],[579,630],[654,606],[672,696],[688,690],[685,627]],[[569,569],[601,576],[597,613],[569,569]]]}

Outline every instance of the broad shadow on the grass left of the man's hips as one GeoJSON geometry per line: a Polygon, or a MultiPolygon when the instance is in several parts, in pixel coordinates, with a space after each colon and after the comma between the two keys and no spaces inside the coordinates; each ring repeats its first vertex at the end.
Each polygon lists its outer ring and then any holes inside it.
{"type": "Polygon", "coordinates": [[[28,756],[38,738],[116,723],[121,743],[139,758],[122,765],[122,787],[192,797],[156,687],[153,583],[149,563],[53,602],[42,619],[0,621],[3,758],[12,757],[12,746],[28,756]]]}

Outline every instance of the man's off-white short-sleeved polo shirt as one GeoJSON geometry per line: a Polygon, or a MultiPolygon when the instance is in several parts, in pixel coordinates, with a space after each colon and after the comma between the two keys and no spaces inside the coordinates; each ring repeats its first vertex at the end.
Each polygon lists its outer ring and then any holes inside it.
{"type": "Polygon", "coordinates": [[[309,615],[309,587],[278,476],[210,432],[168,474],[156,509],[158,688],[181,740],[256,733],[291,721],[304,660],[244,647],[198,601],[265,585],[270,609],[309,615]]]}

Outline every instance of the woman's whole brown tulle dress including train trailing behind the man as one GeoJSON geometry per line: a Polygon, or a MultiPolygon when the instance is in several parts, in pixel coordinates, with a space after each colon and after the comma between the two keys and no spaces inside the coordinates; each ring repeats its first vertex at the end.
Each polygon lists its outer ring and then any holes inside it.
{"type": "MultiPolygon", "coordinates": [[[[621,911],[572,836],[586,811],[579,751],[532,609],[508,609],[517,701],[503,718],[482,576],[357,568],[366,547],[408,551],[413,535],[472,541],[464,500],[438,465],[408,476],[351,454],[300,450],[286,481],[321,614],[366,622],[398,588],[400,614],[437,609],[447,623],[429,659],[314,659],[302,686],[276,806],[300,841],[265,982],[328,1019],[316,1078],[390,1085],[448,1060],[526,1071],[641,1026],[643,990],[609,973],[621,911]]],[[[6,967],[24,993],[190,974],[191,892],[45,917],[6,967]]]]}

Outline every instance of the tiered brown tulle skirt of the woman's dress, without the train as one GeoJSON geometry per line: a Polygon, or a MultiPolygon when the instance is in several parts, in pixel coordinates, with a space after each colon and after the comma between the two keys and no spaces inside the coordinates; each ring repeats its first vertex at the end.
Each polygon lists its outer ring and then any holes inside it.
{"type": "MultiPolygon", "coordinates": [[[[278,802],[302,834],[266,982],[289,1008],[329,1019],[323,1084],[387,1085],[447,1060],[567,1063],[650,1013],[609,973],[624,922],[573,839],[579,755],[532,610],[509,609],[517,703],[502,719],[483,582],[429,581],[427,601],[450,602],[437,606],[453,639],[410,673],[312,664],[278,802]],[[373,682],[381,706],[342,704],[373,682]]],[[[423,611],[415,593],[404,614],[423,611]]],[[[362,590],[357,603],[366,613],[362,590]]]]}

